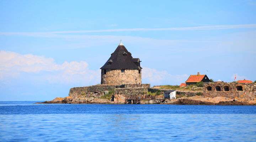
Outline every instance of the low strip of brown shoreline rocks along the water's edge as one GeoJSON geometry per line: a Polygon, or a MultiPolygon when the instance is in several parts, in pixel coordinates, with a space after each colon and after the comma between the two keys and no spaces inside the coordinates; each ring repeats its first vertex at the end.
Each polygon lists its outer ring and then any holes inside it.
{"type": "MultiPolygon", "coordinates": [[[[73,97],[57,97],[51,101],[45,101],[37,104],[124,104],[123,101],[111,101],[100,98],[73,98],[73,97]]],[[[238,99],[225,97],[182,97],[177,99],[143,99],[140,104],[175,104],[175,105],[256,105],[256,101],[241,101],[238,99]]]]}

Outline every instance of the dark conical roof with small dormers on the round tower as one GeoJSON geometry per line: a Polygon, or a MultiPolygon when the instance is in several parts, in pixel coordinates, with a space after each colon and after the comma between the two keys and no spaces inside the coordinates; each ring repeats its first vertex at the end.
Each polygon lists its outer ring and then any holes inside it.
{"type": "Polygon", "coordinates": [[[120,43],[114,53],[100,69],[141,69],[135,62],[138,62],[139,58],[133,58],[132,54],[120,43]],[[124,55],[125,53],[127,55],[124,55]],[[112,60],[112,64],[109,65],[108,61],[112,60]]]}

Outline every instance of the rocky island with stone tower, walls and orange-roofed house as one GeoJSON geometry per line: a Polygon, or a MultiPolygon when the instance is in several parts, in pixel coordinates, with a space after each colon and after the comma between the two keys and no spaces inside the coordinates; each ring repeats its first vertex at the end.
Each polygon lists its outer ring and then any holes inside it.
{"type": "Polygon", "coordinates": [[[43,103],[67,104],[201,104],[255,105],[256,83],[210,82],[206,75],[191,75],[181,87],[142,84],[140,59],[120,42],[110,58],[100,68],[101,84],[75,87],[69,96],[57,97],[43,103]],[[197,86],[195,83],[201,83],[197,86]],[[188,89],[190,88],[190,89],[188,89]],[[165,97],[164,92],[175,89],[176,97],[165,97]]]}

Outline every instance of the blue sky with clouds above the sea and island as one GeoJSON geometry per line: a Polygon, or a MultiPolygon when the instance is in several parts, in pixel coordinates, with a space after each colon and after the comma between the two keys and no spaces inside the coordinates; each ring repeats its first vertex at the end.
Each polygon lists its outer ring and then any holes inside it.
{"type": "Polygon", "coordinates": [[[256,80],[255,0],[1,0],[0,101],[99,84],[120,40],[151,86],[256,80]]]}

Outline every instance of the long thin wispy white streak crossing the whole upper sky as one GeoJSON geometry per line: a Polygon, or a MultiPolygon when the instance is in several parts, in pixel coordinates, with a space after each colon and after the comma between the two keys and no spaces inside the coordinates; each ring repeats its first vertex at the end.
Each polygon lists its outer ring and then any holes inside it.
{"type": "Polygon", "coordinates": [[[234,24],[234,25],[213,25],[196,27],[172,27],[172,28],[123,28],[123,29],[103,29],[103,30],[82,30],[82,31],[54,31],[54,32],[0,32],[0,35],[50,35],[50,34],[70,34],[70,33],[103,33],[103,32],[138,32],[138,31],[196,31],[196,30],[220,30],[220,29],[240,29],[256,28],[256,24],[234,24]]]}

